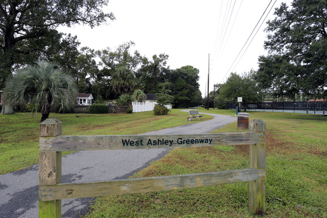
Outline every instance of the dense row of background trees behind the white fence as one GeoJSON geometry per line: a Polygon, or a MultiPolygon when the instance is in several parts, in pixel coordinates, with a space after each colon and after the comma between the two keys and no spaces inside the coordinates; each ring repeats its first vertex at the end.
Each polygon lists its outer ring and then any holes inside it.
{"type": "Polygon", "coordinates": [[[80,93],[110,100],[122,95],[130,99],[135,90],[142,90],[161,96],[176,108],[201,104],[199,69],[190,65],[170,69],[167,54],[145,57],[132,50],[135,44],[131,41],[115,50],[107,47],[98,51],[88,47],[78,50],[79,43],[70,36],[62,43],[64,51],[48,59],[74,78],[80,93]]]}

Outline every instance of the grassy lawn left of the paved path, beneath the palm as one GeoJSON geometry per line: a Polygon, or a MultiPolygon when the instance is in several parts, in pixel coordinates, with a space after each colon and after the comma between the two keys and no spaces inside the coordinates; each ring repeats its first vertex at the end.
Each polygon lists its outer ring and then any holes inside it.
{"type": "MultiPolygon", "coordinates": [[[[119,135],[190,124],[188,113],[172,109],[167,116],[154,116],[152,111],[133,114],[56,114],[62,122],[63,135],[119,135]],[[79,117],[76,117],[79,116],[79,117]]],[[[39,161],[39,121],[41,114],[0,115],[0,174],[27,168],[39,161]]],[[[205,115],[200,122],[212,119],[205,115]]],[[[67,153],[63,153],[66,155],[67,153]]]]}

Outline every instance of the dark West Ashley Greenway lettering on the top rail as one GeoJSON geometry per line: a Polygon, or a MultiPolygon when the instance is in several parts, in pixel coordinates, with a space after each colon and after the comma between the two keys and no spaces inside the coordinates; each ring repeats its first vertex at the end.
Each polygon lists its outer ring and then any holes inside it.
{"type": "MultiPolygon", "coordinates": [[[[211,144],[212,138],[177,138],[177,144],[211,144]]],[[[147,140],[130,140],[122,139],[123,146],[172,146],[174,139],[147,139],[147,140]]]]}

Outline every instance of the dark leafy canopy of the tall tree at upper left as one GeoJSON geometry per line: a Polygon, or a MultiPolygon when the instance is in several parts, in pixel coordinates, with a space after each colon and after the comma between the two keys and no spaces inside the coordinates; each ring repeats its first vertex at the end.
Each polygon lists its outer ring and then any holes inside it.
{"type": "Polygon", "coordinates": [[[1,84],[15,64],[26,64],[24,56],[45,50],[57,35],[59,25],[100,25],[112,13],[102,12],[108,0],[2,0],[0,2],[1,84]],[[45,43],[48,42],[48,43],[45,43]],[[41,46],[40,46],[41,45],[41,46]]]}

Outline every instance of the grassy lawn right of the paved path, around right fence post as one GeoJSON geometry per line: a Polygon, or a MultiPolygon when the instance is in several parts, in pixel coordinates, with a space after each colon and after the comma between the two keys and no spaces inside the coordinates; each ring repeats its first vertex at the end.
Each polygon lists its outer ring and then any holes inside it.
{"type": "MultiPolygon", "coordinates": [[[[200,112],[234,115],[232,110],[200,112]]],[[[327,117],[250,112],[267,123],[264,217],[327,217],[327,117]]],[[[236,132],[236,122],[213,132],[236,132]]],[[[248,146],[174,149],[133,177],[247,168],[248,146]]],[[[99,197],[85,217],[254,217],[248,183],[99,197]]]]}

